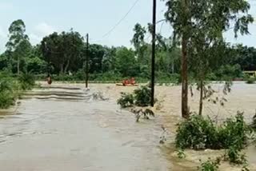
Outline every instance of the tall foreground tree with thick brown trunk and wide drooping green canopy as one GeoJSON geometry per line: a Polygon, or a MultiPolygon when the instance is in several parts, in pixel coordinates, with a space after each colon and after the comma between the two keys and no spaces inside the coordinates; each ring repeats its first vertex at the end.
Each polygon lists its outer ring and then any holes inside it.
{"type": "Polygon", "coordinates": [[[248,34],[248,24],[254,19],[250,14],[245,14],[250,4],[244,0],[168,0],[166,6],[166,19],[182,42],[182,116],[189,117],[188,54],[199,57],[197,67],[201,68],[199,77],[202,81],[206,74],[204,70],[210,68],[210,65],[206,66],[208,59],[212,59],[212,56],[206,55],[212,46],[222,42],[223,32],[230,30],[234,24],[235,37],[238,32],[248,34]]]}

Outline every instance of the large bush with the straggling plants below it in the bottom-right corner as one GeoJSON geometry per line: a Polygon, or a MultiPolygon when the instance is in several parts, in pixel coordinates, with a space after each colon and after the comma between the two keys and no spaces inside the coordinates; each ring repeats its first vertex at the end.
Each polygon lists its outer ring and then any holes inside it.
{"type": "MultiPolygon", "coordinates": [[[[254,118],[255,120],[255,118],[254,118]]],[[[253,124],[254,125],[254,124],[253,124]]],[[[217,171],[220,161],[229,161],[230,164],[242,165],[243,171],[248,171],[248,161],[242,149],[254,139],[250,125],[246,125],[243,113],[238,112],[235,117],[228,118],[222,125],[216,125],[210,117],[192,115],[178,125],[175,139],[179,151],[183,149],[225,149],[225,155],[216,160],[203,162],[198,170],[217,171]]]]}

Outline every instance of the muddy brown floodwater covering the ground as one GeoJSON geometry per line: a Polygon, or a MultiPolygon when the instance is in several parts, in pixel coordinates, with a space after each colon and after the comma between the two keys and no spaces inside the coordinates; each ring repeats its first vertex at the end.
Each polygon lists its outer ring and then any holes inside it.
{"type": "MultiPolygon", "coordinates": [[[[54,84],[27,92],[21,103],[0,112],[0,170],[3,171],[144,171],[196,170],[199,159],[221,151],[186,151],[175,156],[176,124],[180,117],[180,87],[158,86],[162,109],[150,121],[135,122],[134,115],[116,104],[119,93],[133,87],[115,85],[54,84]],[[94,98],[101,92],[104,99],[94,98]],[[166,145],[159,144],[162,128],[168,129],[166,145]]],[[[221,89],[221,85],[215,85],[221,89]]],[[[256,86],[235,83],[224,107],[206,103],[204,113],[218,120],[245,111],[248,121],[256,109],[256,86]]],[[[198,109],[198,94],[190,99],[198,109]]],[[[247,149],[251,170],[256,170],[255,147],[247,149]]],[[[222,170],[236,170],[222,165],[222,170]]],[[[241,169],[238,169],[241,170],[241,169]]]]}

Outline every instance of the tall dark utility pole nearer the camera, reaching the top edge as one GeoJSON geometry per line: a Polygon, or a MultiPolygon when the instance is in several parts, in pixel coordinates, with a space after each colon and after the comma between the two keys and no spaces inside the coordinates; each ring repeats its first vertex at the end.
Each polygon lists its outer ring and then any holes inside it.
{"type": "Polygon", "coordinates": [[[156,27],[157,1],[153,0],[153,33],[152,33],[152,62],[151,62],[151,101],[154,107],[154,63],[155,63],[155,27],[156,27]]]}

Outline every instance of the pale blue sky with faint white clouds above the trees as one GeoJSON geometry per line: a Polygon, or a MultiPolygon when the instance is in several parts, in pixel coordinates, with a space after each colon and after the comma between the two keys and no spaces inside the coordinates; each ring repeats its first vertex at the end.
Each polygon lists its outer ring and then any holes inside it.
{"type": "MultiPolygon", "coordinates": [[[[130,10],[136,0],[1,0],[0,2],[0,51],[5,50],[8,27],[17,19],[26,23],[26,34],[32,44],[54,31],[73,28],[82,35],[90,33],[92,43],[107,46],[131,46],[133,26],[139,22],[146,26],[152,20],[152,0],[138,0],[130,14],[110,33],[104,36],[130,10]]],[[[256,0],[250,0],[251,10],[256,18],[256,0]]],[[[158,0],[158,20],[163,19],[164,2],[158,0]]],[[[158,32],[170,36],[170,26],[158,24],[158,32]]],[[[256,47],[256,23],[250,26],[251,35],[234,39],[226,33],[226,39],[233,43],[244,43],[256,47]]],[[[149,39],[149,37],[146,37],[149,39]]]]}

